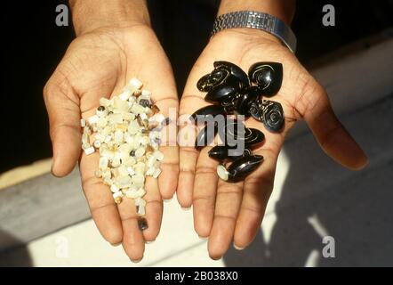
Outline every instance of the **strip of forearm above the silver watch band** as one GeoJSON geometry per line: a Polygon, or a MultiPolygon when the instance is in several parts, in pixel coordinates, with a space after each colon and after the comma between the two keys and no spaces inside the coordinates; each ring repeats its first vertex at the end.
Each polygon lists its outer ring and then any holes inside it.
{"type": "Polygon", "coordinates": [[[291,24],[295,12],[295,0],[221,0],[219,15],[228,12],[253,10],[270,15],[291,24]]]}

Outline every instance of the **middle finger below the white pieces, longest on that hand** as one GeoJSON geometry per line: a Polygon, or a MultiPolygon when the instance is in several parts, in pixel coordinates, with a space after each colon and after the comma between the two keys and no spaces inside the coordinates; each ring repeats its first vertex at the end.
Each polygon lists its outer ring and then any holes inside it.
{"type": "Polygon", "coordinates": [[[123,248],[132,261],[140,261],[145,251],[145,239],[138,226],[133,199],[123,199],[117,206],[123,226],[123,248]]]}

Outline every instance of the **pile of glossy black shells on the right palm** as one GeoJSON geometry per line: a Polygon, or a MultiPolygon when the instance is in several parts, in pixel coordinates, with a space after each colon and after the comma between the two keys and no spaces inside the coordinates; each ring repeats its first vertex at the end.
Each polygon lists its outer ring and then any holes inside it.
{"type": "Polygon", "coordinates": [[[258,129],[245,127],[237,115],[243,115],[245,119],[253,117],[270,132],[280,132],[285,123],[283,108],[279,102],[265,97],[277,94],[282,80],[281,63],[257,62],[250,67],[247,75],[228,61],[215,61],[213,71],[198,80],[197,88],[207,92],[205,101],[213,105],[199,109],[191,116],[197,124],[205,124],[197,134],[195,147],[200,150],[212,143],[216,134],[220,135],[222,144],[214,146],[209,156],[220,161],[217,174],[222,180],[244,180],[261,165],[263,157],[254,155],[252,147],[263,142],[265,135],[258,129]],[[217,116],[224,118],[223,124],[214,120],[217,116]],[[239,127],[239,124],[243,126],[239,127]],[[244,131],[239,134],[239,129],[244,131]],[[244,148],[240,149],[244,151],[237,151],[238,142],[243,143],[244,148]]]}

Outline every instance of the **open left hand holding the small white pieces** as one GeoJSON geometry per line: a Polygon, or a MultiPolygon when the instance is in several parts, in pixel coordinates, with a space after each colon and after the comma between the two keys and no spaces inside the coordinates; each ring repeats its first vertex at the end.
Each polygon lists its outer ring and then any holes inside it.
{"type": "MultiPolygon", "coordinates": [[[[67,175],[79,159],[84,194],[92,218],[113,245],[123,243],[132,260],[143,256],[145,241],[155,240],[163,213],[162,199],[170,199],[178,177],[177,147],[164,146],[162,174],[146,182],[148,230],[140,232],[131,199],[116,206],[108,186],[94,176],[99,154],[81,155],[80,118],[89,118],[100,98],[120,94],[132,77],[152,92],[165,117],[178,107],[172,69],[156,35],[146,25],[95,28],[76,39],[44,87],[53,145],[52,173],[67,175]]],[[[64,193],[67,195],[67,193],[64,193]]]]}

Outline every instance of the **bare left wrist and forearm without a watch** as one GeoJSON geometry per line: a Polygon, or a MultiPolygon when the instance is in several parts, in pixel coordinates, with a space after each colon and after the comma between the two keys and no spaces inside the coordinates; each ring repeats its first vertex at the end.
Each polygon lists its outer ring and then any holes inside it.
{"type": "Polygon", "coordinates": [[[76,36],[102,27],[150,25],[146,0],[69,0],[76,36]]]}

